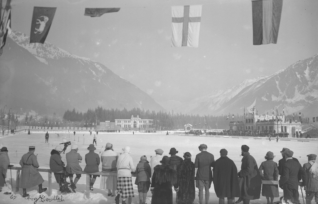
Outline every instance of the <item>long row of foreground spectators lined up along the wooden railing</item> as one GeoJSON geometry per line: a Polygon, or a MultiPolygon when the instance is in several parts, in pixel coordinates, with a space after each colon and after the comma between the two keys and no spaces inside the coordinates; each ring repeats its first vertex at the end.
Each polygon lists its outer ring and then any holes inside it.
{"type": "MultiPolygon", "coordinates": [[[[67,143],[70,145],[70,142],[67,143]]],[[[66,144],[65,144],[66,145],[66,144]]],[[[68,146],[67,145],[67,146],[68,146]]],[[[66,147],[67,147],[66,146],[66,147]]],[[[7,147],[0,147],[0,186],[3,187],[10,160],[7,147]]],[[[198,146],[199,153],[195,162],[191,161],[191,154],[186,152],[183,158],[177,156],[176,148],[169,151],[170,157],[162,156],[163,150],[156,149],[156,156],[147,160],[142,155],[137,166],[130,156],[130,147],[124,147],[123,153],[116,153],[111,143],[106,144],[105,151],[99,156],[94,152],[96,147],[90,144],[85,155],[86,166],[84,172],[89,175],[90,190],[96,177],[94,173],[99,171],[108,172],[109,175],[102,175],[100,189],[107,190],[107,196],[115,197],[114,201],[119,204],[132,203],[135,197],[132,184],[132,176],[136,176],[135,184],[138,186],[139,203],[145,204],[147,193],[150,189],[152,204],[172,204],[172,187],[176,191],[176,203],[193,204],[195,199],[195,188],[199,189],[199,203],[209,202],[209,188],[212,181],[214,190],[219,198],[219,204],[224,204],[227,198],[228,204],[234,203],[234,198],[239,199],[235,203],[249,204],[250,200],[265,196],[267,204],[273,204],[274,197],[279,197],[278,187],[283,189],[283,203],[300,203],[298,185],[302,180],[301,187],[305,187],[306,204],[311,204],[315,197],[318,203],[318,164],[315,162],[317,155],[308,154],[308,163],[303,166],[293,157],[293,151],[283,148],[282,159],[278,164],[273,161],[272,152],[267,152],[265,161],[258,167],[256,160],[249,153],[249,146],[241,146],[242,164],[238,172],[234,162],[227,157],[227,150],[220,150],[220,158],[214,160],[214,155],[207,152],[207,145],[198,146]],[[213,170],[211,169],[213,167],[213,170]],[[213,172],[213,174],[212,174],[213,172]],[[277,184],[262,184],[262,180],[279,180],[277,184]]],[[[62,161],[60,146],[51,151],[50,169],[54,172],[55,179],[59,184],[59,190],[63,193],[75,192],[76,183],[81,177],[82,168],[79,163],[82,156],[78,153],[78,146],[71,145],[71,151],[66,153],[66,164],[62,161]],[[73,175],[76,175],[73,180],[73,175]],[[66,178],[69,178],[70,183],[66,178]],[[69,185],[70,184],[70,185],[69,185]],[[71,188],[71,189],[69,189],[71,188]]],[[[64,150],[65,151],[65,150],[64,150]]],[[[29,152],[24,154],[20,160],[22,172],[20,175],[19,187],[23,189],[22,197],[28,197],[26,189],[34,186],[39,187],[39,193],[45,192],[47,188],[42,187],[44,182],[37,168],[39,167],[37,157],[34,155],[35,146],[29,146],[29,152]]],[[[5,193],[7,194],[7,192],[5,193]]]]}

